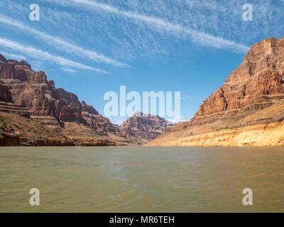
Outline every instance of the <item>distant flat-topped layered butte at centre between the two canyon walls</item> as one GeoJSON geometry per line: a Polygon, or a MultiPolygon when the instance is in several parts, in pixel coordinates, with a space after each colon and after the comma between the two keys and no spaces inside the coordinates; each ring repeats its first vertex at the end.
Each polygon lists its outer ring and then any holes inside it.
{"type": "Polygon", "coordinates": [[[136,113],[119,127],[122,135],[133,143],[143,144],[161,135],[172,124],[160,116],[136,113]]]}

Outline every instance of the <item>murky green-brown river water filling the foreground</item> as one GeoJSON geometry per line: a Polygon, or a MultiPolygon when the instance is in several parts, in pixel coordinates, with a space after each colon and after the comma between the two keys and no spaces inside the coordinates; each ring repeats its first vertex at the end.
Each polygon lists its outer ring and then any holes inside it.
{"type": "Polygon", "coordinates": [[[0,182],[0,212],[284,212],[284,149],[0,148],[0,182]]]}

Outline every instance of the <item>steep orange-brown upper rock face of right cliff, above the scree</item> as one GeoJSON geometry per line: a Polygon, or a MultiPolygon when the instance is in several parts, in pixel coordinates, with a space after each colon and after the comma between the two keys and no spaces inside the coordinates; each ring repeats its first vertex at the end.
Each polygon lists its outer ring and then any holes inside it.
{"type": "Polygon", "coordinates": [[[195,118],[283,99],[283,49],[284,38],[253,45],[239,68],[200,106],[195,118]]]}

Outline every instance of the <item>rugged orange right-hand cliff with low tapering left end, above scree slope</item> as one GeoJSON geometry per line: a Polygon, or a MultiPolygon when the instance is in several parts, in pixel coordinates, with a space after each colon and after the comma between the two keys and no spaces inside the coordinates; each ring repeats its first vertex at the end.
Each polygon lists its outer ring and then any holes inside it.
{"type": "Polygon", "coordinates": [[[195,117],[175,129],[216,121],[222,123],[219,126],[229,127],[231,123],[284,99],[283,50],[284,37],[280,40],[267,38],[253,45],[244,62],[204,101],[195,117]]]}

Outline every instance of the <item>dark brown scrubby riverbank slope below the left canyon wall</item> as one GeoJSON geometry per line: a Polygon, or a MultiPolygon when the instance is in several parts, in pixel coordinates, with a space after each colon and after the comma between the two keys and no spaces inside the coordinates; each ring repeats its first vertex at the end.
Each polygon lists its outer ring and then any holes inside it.
{"type": "Polygon", "coordinates": [[[38,122],[0,112],[0,146],[116,146],[104,138],[68,137],[57,128],[47,128],[38,122]]]}

